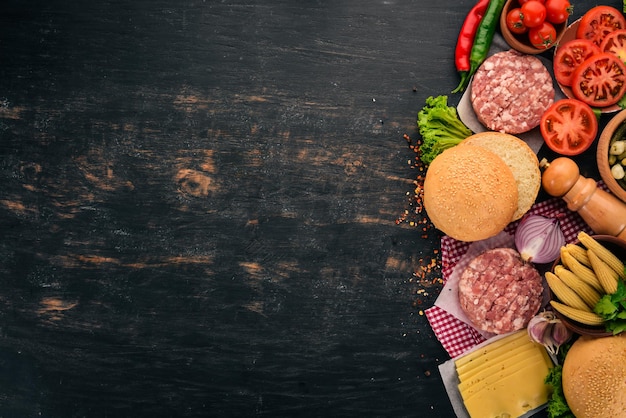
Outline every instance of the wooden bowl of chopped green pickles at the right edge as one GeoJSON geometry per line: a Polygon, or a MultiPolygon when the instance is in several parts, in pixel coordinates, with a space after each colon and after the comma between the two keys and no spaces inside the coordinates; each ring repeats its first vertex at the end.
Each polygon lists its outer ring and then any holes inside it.
{"type": "Polygon", "coordinates": [[[602,181],[626,202],[626,110],[616,113],[602,130],[596,161],[602,181]]]}

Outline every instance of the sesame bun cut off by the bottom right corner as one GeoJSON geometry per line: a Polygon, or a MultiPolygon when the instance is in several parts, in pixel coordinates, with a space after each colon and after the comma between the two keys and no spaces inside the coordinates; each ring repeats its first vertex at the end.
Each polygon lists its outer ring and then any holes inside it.
{"type": "Polygon", "coordinates": [[[626,333],[576,340],[563,363],[563,393],[576,418],[626,418],[626,333]]]}

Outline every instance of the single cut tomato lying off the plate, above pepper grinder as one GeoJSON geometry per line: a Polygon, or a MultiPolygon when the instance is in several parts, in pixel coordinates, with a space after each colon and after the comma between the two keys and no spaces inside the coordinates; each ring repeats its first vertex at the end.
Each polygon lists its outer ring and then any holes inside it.
{"type": "Polygon", "coordinates": [[[591,107],[576,99],[556,101],[541,117],[541,136],[561,155],[578,155],[591,146],[598,133],[598,119],[591,107]]]}

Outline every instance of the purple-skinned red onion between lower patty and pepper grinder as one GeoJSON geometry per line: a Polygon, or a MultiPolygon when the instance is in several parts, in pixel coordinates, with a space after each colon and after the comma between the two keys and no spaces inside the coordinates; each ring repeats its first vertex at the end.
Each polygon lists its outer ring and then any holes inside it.
{"type": "Polygon", "coordinates": [[[529,215],[515,231],[515,247],[526,261],[550,263],[557,259],[563,245],[565,236],[556,218],[529,215]]]}

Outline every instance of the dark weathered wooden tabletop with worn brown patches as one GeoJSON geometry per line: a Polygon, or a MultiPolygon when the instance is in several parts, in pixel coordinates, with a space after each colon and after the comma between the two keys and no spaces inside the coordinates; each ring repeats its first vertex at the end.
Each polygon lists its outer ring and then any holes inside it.
{"type": "Polygon", "coordinates": [[[0,417],[453,416],[404,135],[473,3],[4,0],[0,417]]]}

